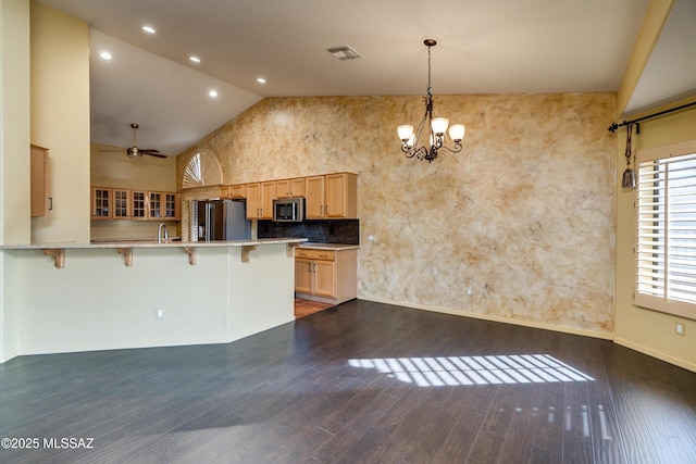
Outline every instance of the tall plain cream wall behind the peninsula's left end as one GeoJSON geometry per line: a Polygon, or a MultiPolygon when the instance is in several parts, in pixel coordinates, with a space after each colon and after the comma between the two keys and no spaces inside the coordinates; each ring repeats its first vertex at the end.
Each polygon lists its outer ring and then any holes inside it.
{"type": "Polygon", "coordinates": [[[49,149],[53,210],[32,241],[89,242],[89,27],[32,2],[32,143],[49,149]]]}

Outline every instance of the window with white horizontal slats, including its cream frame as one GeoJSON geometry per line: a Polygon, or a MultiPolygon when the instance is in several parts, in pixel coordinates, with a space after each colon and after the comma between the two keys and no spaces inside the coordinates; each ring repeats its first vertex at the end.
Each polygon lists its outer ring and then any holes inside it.
{"type": "Polygon", "coordinates": [[[696,141],[637,153],[635,302],[696,316],[696,141]]]}

